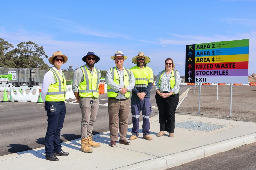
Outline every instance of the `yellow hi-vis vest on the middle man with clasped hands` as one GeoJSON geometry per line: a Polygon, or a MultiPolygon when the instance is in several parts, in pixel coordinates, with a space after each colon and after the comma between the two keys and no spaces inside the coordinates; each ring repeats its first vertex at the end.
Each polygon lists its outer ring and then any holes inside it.
{"type": "MultiPolygon", "coordinates": [[[[116,67],[110,68],[110,71],[111,71],[111,74],[112,74],[112,79],[114,80],[114,82],[116,84],[119,85],[120,84],[120,77],[119,77],[119,74],[117,72],[116,67]]],[[[130,70],[124,68],[124,87],[127,87],[129,85],[130,79],[131,79],[131,72],[130,72],[130,70]]],[[[109,86],[107,86],[107,92],[108,92],[108,97],[115,98],[115,97],[117,97],[119,91],[115,91],[115,90],[111,89],[109,86]]],[[[124,94],[124,96],[126,98],[129,98],[130,97],[130,91],[127,91],[124,94]]]]}

